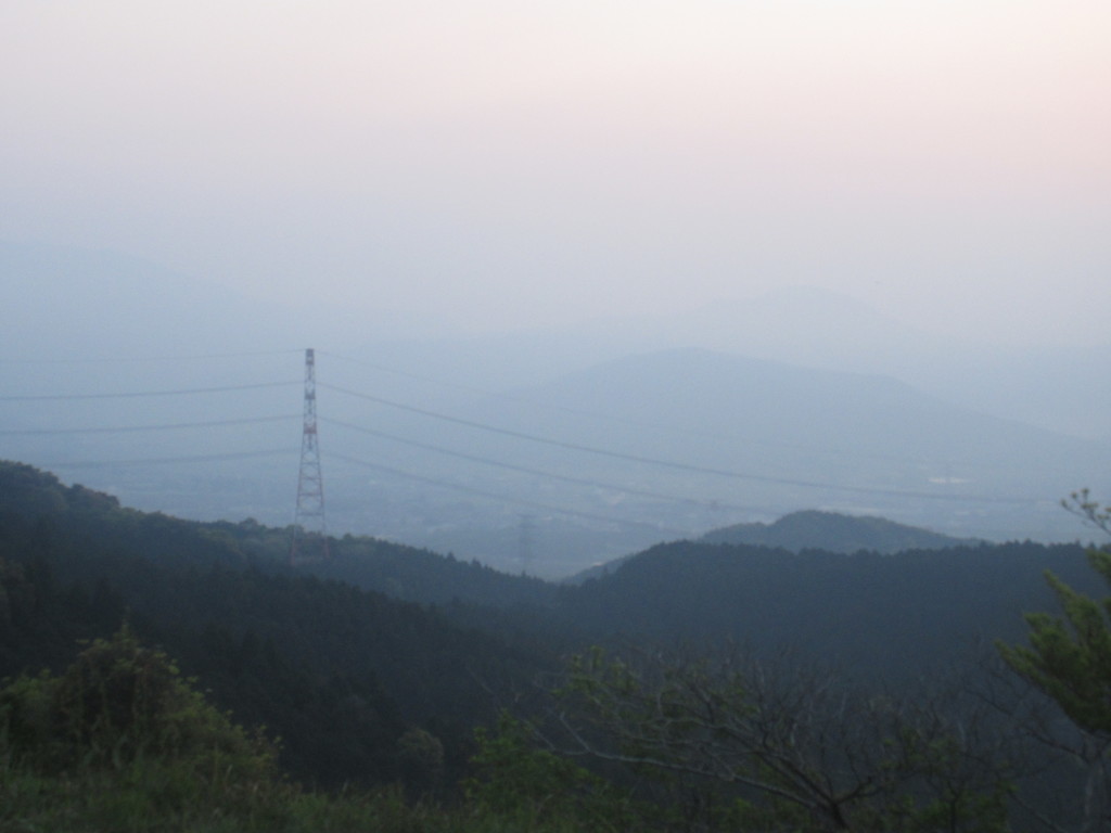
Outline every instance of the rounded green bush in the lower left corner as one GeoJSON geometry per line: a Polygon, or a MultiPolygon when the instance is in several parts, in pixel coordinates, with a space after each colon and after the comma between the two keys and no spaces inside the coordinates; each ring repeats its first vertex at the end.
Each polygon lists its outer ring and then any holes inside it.
{"type": "Polygon", "coordinates": [[[266,739],[234,725],[127,628],[60,675],[0,690],[0,822],[28,830],[261,820],[290,789],[266,739]]]}

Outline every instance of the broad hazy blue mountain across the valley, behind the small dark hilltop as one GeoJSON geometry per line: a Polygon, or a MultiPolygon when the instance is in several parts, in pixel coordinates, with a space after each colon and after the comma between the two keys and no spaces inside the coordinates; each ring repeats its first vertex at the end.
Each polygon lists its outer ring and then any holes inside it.
{"type": "MultiPolygon", "coordinates": [[[[961,408],[891,377],[699,349],[605,362],[522,399],[530,404],[491,401],[476,419],[729,472],[710,480],[652,470],[653,489],[733,510],[691,518],[688,536],[822,506],[961,538],[1045,539],[1065,534],[1057,532],[1068,523],[1058,500],[1078,482],[1105,491],[1111,462],[1105,444],[961,408]]],[[[537,468],[567,456],[538,454],[537,468]]],[[[583,456],[574,473],[615,482],[620,472],[583,456]]],[[[641,511],[660,520],[671,510],[641,511]]]]}

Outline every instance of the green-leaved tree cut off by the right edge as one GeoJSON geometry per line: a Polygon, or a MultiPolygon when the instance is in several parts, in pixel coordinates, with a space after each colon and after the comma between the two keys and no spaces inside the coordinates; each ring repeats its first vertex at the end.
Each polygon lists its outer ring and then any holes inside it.
{"type": "MultiPolygon", "coordinates": [[[[1087,490],[1064,505],[1111,534],[1111,508],[1101,508],[1087,490]]],[[[1111,551],[1092,548],[1088,561],[1111,586],[1111,551]]],[[[1074,730],[1070,736],[1039,725],[1032,734],[1084,772],[1080,830],[1111,830],[1111,596],[1090,599],[1048,571],[1045,580],[1062,615],[1027,614],[1030,644],[999,643],[999,652],[1011,671],[1057,703],[1074,730]]],[[[1067,830],[1058,821],[1043,821],[1053,830],[1067,830]]]]}

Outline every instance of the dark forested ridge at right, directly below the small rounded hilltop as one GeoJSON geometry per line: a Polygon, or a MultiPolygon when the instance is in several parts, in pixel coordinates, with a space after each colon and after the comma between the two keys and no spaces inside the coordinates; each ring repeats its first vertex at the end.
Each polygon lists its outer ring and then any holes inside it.
{"type": "Polygon", "coordinates": [[[1043,572],[1098,592],[1080,546],[980,545],[898,555],[679,542],[568,589],[564,614],[595,633],[790,648],[847,671],[907,679],[1018,640],[1052,608],[1043,572]]]}

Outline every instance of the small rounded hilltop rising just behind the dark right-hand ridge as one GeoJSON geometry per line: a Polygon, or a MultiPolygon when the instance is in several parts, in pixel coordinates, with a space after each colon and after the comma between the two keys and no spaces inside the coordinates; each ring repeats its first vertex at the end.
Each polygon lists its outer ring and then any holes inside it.
{"type": "Polygon", "coordinates": [[[977,542],[951,538],[884,518],[853,516],[807,510],[783,515],[773,523],[739,523],[707,532],[708,544],[779,546],[791,552],[825,550],[891,554],[907,550],[944,550],[977,542]]]}

